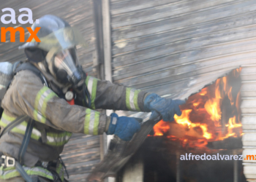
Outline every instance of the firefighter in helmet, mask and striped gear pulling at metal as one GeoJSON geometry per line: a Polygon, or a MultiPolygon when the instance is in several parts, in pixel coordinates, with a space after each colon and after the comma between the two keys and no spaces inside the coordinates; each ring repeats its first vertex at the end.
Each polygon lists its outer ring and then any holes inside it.
{"type": "Polygon", "coordinates": [[[76,54],[80,33],[61,18],[45,15],[31,26],[37,27],[40,42],[20,47],[28,62],[16,69],[1,104],[1,130],[18,124],[0,138],[0,181],[66,181],[59,155],[72,132],[129,141],[140,130],[135,118],[95,109],[151,111],[165,121],[181,115],[181,100],[86,76],[76,54]]]}

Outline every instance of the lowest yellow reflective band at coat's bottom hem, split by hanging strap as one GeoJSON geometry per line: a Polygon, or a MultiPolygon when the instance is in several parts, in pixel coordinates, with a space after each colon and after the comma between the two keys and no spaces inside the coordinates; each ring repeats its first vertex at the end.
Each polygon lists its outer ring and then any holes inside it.
{"type": "MultiPolygon", "coordinates": [[[[42,167],[25,167],[23,166],[23,169],[26,171],[28,175],[39,175],[45,178],[48,178],[50,180],[53,180],[53,175],[50,173],[50,171],[45,170],[42,167]]],[[[6,167],[3,166],[0,167],[0,179],[7,180],[10,178],[15,178],[20,176],[20,173],[18,173],[17,170],[15,170],[15,167],[6,167]]]]}

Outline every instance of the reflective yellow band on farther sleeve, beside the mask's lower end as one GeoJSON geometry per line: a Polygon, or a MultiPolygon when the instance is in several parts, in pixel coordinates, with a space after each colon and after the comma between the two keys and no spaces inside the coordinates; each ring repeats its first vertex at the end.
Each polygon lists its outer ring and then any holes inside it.
{"type": "Polygon", "coordinates": [[[95,109],[95,98],[97,93],[97,82],[99,79],[96,79],[92,76],[86,77],[86,87],[91,95],[91,108],[95,109]]]}

